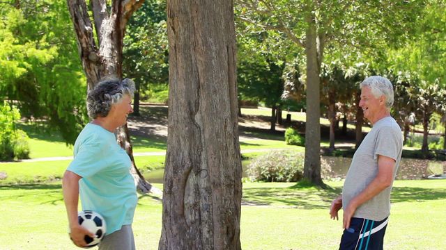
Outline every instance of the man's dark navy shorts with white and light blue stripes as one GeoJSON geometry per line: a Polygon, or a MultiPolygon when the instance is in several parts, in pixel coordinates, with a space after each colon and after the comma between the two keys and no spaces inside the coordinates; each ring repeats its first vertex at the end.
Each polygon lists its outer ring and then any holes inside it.
{"type": "Polygon", "coordinates": [[[339,250],[382,250],[389,217],[380,222],[351,218],[350,228],[342,234],[339,250]]]}

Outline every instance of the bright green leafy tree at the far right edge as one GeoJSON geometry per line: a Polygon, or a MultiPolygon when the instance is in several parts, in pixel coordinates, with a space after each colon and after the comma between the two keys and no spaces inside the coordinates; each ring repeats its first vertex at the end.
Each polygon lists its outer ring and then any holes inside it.
{"type": "Polygon", "coordinates": [[[444,1],[426,1],[425,8],[413,22],[415,35],[404,47],[389,50],[389,60],[394,72],[414,76],[413,101],[415,115],[423,124],[422,152],[427,153],[429,120],[440,112],[445,101],[446,42],[444,1]],[[435,67],[433,67],[435,65],[435,67]]]}

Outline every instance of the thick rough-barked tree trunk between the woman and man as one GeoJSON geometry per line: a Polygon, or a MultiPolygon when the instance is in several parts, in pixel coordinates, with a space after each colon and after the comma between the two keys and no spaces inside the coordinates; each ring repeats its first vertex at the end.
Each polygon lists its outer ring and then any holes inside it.
{"type": "Polygon", "coordinates": [[[231,1],[168,0],[169,128],[159,249],[241,249],[231,1]]]}

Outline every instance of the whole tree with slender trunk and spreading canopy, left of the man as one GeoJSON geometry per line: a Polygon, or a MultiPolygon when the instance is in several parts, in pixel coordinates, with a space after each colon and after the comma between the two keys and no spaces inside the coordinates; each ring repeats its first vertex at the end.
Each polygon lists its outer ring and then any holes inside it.
{"type": "Polygon", "coordinates": [[[321,63],[332,51],[373,51],[386,40],[403,38],[420,3],[382,1],[238,0],[242,19],[284,33],[305,49],[307,113],[304,176],[321,179],[321,63]],[[387,39],[388,38],[388,39],[387,39]],[[336,44],[334,46],[334,44],[336,44]]]}

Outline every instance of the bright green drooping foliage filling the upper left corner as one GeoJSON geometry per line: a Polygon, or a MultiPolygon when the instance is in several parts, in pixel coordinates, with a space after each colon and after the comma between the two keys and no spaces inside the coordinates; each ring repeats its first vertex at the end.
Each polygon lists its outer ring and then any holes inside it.
{"type": "Polygon", "coordinates": [[[0,3],[0,99],[74,143],[86,123],[86,81],[66,1],[0,3]]]}

